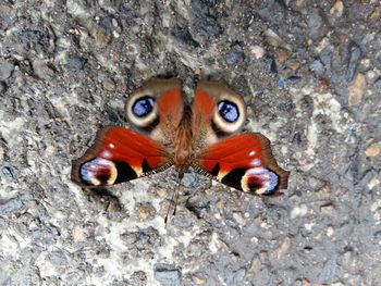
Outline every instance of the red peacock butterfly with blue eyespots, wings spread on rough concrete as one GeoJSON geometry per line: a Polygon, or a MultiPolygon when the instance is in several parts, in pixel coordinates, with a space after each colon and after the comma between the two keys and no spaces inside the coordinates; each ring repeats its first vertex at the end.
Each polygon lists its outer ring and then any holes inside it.
{"type": "Polygon", "coordinates": [[[288,172],[276,164],[266,136],[241,133],[246,109],[223,82],[199,82],[193,103],[186,104],[180,79],[151,78],[125,102],[135,130],[99,130],[94,145],[73,161],[72,181],[111,186],[172,165],[182,178],[192,166],[246,192],[279,195],[287,188],[288,172]]]}

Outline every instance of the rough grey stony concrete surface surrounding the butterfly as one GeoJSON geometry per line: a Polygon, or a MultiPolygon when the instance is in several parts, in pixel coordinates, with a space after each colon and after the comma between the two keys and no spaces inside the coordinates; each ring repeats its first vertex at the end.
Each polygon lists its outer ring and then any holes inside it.
{"type": "Polygon", "coordinates": [[[379,0],[0,1],[0,285],[381,285],[379,0]],[[151,76],[223,78],[291,171],[93,194],[71,161],[151,76]]]}

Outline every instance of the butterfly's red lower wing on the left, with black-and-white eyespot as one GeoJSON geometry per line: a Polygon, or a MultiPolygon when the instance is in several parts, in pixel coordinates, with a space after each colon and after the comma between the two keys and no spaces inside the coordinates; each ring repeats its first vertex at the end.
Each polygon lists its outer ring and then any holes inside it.
{"type": "Polygon", "coordinates": [[[87,186],[113,185],[171,165],[163,147],[124,127],[98,132],[94,146],[73,161],[72,181],[87,186]]]}

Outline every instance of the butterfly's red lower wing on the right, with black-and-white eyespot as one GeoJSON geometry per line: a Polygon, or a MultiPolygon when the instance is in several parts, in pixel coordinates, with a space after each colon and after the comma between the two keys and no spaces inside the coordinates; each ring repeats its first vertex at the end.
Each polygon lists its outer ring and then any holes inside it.
{"type": "Polygon", "coordinates": [[[259,133],[244,133],[208,147],[197,157],[195,167],[228,186],[257,195],[287,188],[288,172],[276,164],[269,139],[259,133]]]}

